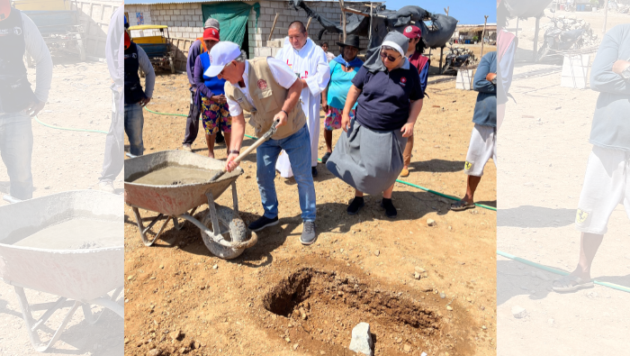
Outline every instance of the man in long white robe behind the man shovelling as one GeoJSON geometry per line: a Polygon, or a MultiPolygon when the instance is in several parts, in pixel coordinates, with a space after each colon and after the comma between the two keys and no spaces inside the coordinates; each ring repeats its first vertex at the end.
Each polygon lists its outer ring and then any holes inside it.
{"type": "MultiPolygon", "coordinates": [[[[302,81],[300,101],[306,114],[306,123],[311,134],[311,171],[317,177],[318,145],[320,141],[320,94],[329,85],[330,67],[326,52],[309,38],[304,23],[294,21],[289,25],[289,36],[284,39],[284,47],[276,55],[293,69],[302,81]]],[[[284,178],[293,177],[291,162],[286,152],[282,152],[275,164],[284,178]]]]}

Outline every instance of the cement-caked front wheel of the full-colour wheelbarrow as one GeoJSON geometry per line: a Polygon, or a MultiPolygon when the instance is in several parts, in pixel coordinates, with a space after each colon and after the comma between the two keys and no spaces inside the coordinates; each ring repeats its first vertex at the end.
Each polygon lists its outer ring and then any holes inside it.
{"type": "MultiPolygon", "coordinates": [[[[240,216],[227,206],[215,205],[217,211],[217,219],[219,220],[220,230],[226,233],[223,238],[229,242],[244,242],[247,239],[247,227],[240,216]]],[[[212,219],[210,212],[203,215],[202,224],[212,230],[212,219]]],[[[240,256],[245,249],[231,249],[221,246],[219,243],[213,242],[212,237],[202,232],[202,239],[208,250],[213,255],[223,259],[232,260],[240,256]]]]}

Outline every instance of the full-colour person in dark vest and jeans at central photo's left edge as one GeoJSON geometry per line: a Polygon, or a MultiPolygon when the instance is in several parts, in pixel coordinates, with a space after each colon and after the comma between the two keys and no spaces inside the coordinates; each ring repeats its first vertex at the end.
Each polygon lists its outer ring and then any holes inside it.
{"type": "MultiPolygon", "coordinates": [[[[127,28],[129,23],[125,25],[127,28]]],[[[151,101],[153,88],[156,84],[156,73],[153,65],[148,59],[147,53],[142,48],[131,41],[129,32],[124,33],[125,40],[125,133],[129,138],[130,153],[134,156],[141,156],[144,152],[142,141],[142,127],[144,126],[144,115],[142,108],[151,101]],[[139,69],[147,73],[146,88],[142,90],[140,85],[139,69]]]]}

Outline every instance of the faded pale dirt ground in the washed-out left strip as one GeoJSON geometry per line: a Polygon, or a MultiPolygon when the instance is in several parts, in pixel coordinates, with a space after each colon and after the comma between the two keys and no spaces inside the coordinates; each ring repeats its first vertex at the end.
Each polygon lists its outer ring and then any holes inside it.
{"type": "MultiPolygon", "coordinates": [[[[67,57],[53,57],[55,64],[49,101],[39,118],[44,123],[64,127],[107,131],[110,125],[111,79],[107,66],[100,62],[76,62],[67,57]]],[[[35,83],[35,69],[29,69],[29,80],[35,83]]],[[[103,164],[105,135],[91,132],[69,132],[50,129],[32,121],[34,136],[32,175],[34,197],[68,190],[97,186],[103,164]]],[[[119,186],[121,186],[119,184],[119,186]]],[[[9,178],[0,164],[0,195],[8,193],[9,178]]],[[[6,205],[0,200],[0,205],[6,205]]],[[[0,221],[2,226],[2,221],[0,221]]],[[[122,233],[122,230],[121,230],[122,233]]],[[[27,290],[31,303],[57,300],[56,296],[27,290]]],[[[63,319],[63,309],[53,315],[40,333],[49,340],[63,319]]],[[[93,308],[94,312],[102,308],[93,308]]],[[[122,352],[122,319],[106,311],[94,326],[85,324],[79,308],[54,345],[59,355],[120,355],[122,352]]],[[[41,311],[34,313],[39,317],[41,311]]],[[[14,288],[0,281],[0,354],[36,355],[31,347],[26,325],[14,288]]]]}

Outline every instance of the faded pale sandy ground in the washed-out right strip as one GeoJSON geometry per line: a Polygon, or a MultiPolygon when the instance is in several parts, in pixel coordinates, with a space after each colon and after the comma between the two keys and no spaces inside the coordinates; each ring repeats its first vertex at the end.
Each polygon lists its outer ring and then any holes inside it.
{"type": "MultiPolygon", "coordinates": [[[[577,15],[593,28],[602,28],[603,14],[577,15]]],[[[608,15],[608,29],[628,22],[627,14],[608,15]]],[[[513,20],[509,27],[515,23],[513,20]]],[[[537,65],[528,62],[534,25],[533,19],[519,23],[523,31],[519,32],[515,76],[561,68],[562,59],[537,65]]],[[[580,251],[580,233],[573,222],[592,147],[588,138],[598,93],[560,87],[560,78],[560,72],[555,72],[512,84],[511,93],[518,104],[509,102],[498,148],[497,249],[572,271],[580,251]]],[[[622,205],[611,216],[608,229],[591,276],[630,286],[630,224],[622,205]]],[[[499,355],[627,353],[627,293],[596,286],[560,295],[551,291],[552,281],[546,280],[559,276],[543,272],[544,277],[532,277],[535,269],[503,257],[498,257],[497,272],[499,355]],[[527,316],[515,317],[515,306],[525,308],[527,316]]]]}

